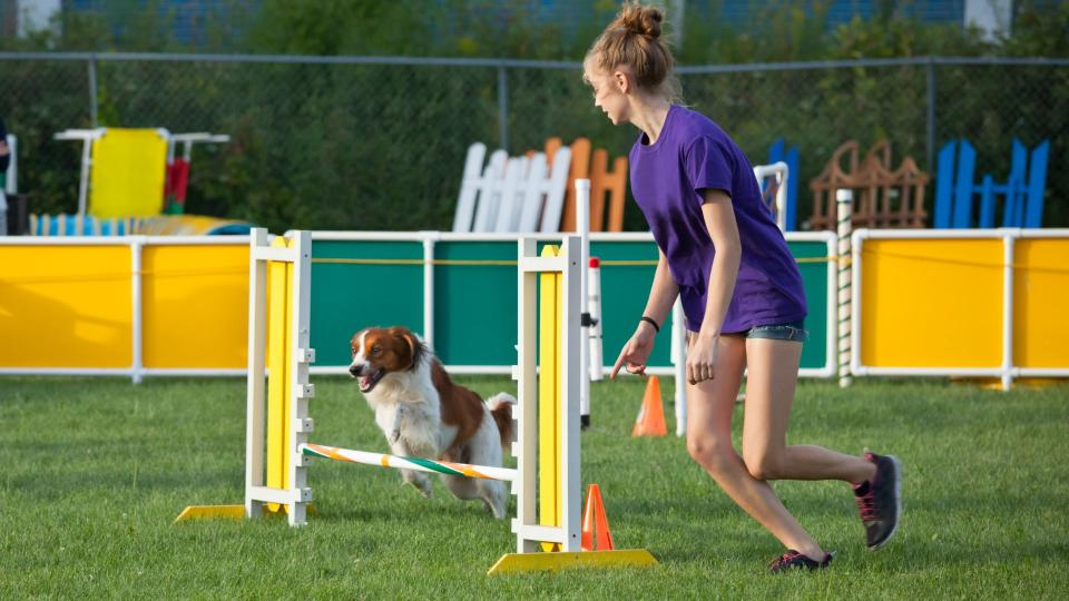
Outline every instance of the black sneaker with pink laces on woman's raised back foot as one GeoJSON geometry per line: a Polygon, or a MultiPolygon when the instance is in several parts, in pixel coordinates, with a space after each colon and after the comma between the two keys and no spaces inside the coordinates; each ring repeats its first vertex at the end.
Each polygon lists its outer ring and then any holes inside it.
{"type": "Polygon", "coordinates": [[[865,524],[865,544],[870,551],[880,549],[899,529],[902,513],[901,465],[894,455],[865,453],[876,464],[876,475],[854,486],[854,500],[865,524]]]}

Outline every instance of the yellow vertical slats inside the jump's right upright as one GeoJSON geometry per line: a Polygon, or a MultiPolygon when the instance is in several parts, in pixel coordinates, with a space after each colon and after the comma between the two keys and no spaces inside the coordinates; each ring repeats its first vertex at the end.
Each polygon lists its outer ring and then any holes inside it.
{"type": "MultiPolygon", "coordinates": [[[[558,248],[546,246],[543,257],[556,257],[558,248]]],[[[538,299],[538,523],[560,525],[560,321],[557,313],[560,295],[560,274],[543,273],[538,299]]],[[[556,543],[542,543],[550,551],[556,543]]]]}

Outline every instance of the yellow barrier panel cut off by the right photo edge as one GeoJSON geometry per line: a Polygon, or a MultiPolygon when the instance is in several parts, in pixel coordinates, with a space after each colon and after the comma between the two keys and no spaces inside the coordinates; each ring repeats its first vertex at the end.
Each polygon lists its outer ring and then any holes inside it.
{"type": "Polygon", "coordinates": [[[1069,366],[1069,239],[1019,238],[1013,248],[1013,364],[1069,366]]]}

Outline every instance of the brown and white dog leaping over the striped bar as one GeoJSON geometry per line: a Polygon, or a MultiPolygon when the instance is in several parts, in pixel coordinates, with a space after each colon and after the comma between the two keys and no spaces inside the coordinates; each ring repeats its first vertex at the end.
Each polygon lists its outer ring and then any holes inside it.
{"type": "MultiPolygon", "coordinates": [[[[441,362],[404,327],[362,329],[351,345],[349,373],[357,380],[394,455],[501,465],[501,450],[512,441],[513,396],[499,393],[488,406],[475,393],[453,384],[441,362]]],[[[425,474],[401,470],[401,476],[431,496],[425,474]]],[[[496,518],[504,518],[504,482],[440,477],[458,499],[482,499],[496,518]]]]}

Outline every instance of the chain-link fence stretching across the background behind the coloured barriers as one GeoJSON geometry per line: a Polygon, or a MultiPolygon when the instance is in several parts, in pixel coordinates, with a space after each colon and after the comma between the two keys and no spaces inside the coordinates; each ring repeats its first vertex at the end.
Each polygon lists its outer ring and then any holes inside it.
{"type": "MultiPolygon", "coordinates": [[[[952,139],[977,173],[1009,174],[1011,140],[1051,140],[1045,226],[1069,226],[1069,60],[904,59],[684,67],[685,102],[719,122],[755,164],[783,138],[808,181],[847,139],[887,138],[935,176],[952,139]]],[[[468,146],[519,154],[578,136],[611,156],[637,136],[594,107],[578,63],[464,59],[0,53],[0,116],[19,137],[31,210],[73,211],[80,148],[67,128],[163,127],[228,134],[197,146],[190,213],[282,231],[448,229],[468,146]]],[[[979,175],[977,177],[979,180],[979,175]]],[[[931,214],[934,186],[925,195],[931,214]]],[[[625,227],[645,229],[629,204],[625,227]]]]}

